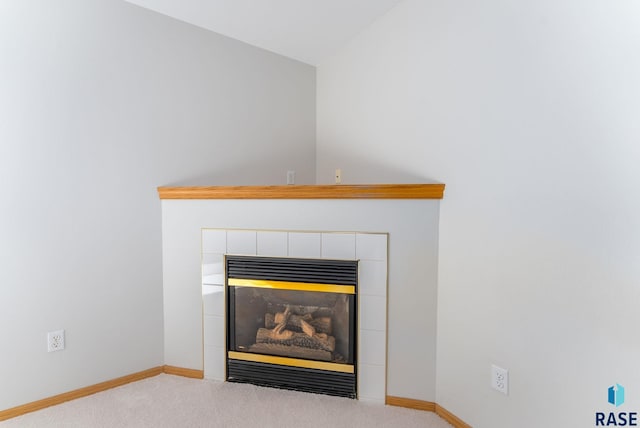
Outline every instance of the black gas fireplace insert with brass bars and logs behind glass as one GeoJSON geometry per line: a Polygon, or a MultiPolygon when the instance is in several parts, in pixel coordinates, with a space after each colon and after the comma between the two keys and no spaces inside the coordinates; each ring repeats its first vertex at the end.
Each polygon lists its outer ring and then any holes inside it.
{"type": "Polygon", "coordinates": [[[358,262],[225,256],[226,380],[357,396],[358,262]]]}

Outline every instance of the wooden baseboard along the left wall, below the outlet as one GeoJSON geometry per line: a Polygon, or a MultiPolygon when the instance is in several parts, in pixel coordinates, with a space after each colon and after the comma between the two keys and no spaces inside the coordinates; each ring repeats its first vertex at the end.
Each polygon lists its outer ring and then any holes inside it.
{"type": "Polygon", "coordinates": [[[164,367],[154,367],[149,370],[144,370],[138,373],[122,376],[117,379],[108,380],[106,382],[101,382],[95,385],[76,389],[75,391],[65,392],[63,394],[54,395],[53,397],[44,398],[42,400],[34,401],[28,404],[23,404],[22,406],[16,406],[7,410],[0,410],[0,421],[15,418],[16,416],[24,415],[26,413],[35,412],[36,410],[42,410],[47,407],[55,406],[56,404],[62,404],[67,401],[75,400],[76,398],[93,395],[97,392],[106,391],[108,389],[116,388],[118,386],[126,385],[128,383],[136,382],[148,377],[157,376],[161,373],[164,373],[164,367]]]}

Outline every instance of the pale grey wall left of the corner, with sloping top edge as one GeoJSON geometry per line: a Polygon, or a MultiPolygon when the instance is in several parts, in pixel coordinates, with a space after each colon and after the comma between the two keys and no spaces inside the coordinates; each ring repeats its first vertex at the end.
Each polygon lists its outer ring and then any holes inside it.
{"type": "Polygon", "coordinates": [[[163,364],[156,187],[312,183],[314,139],[308,65],[121,1],[0,2],[0,410],[163,364]]]}

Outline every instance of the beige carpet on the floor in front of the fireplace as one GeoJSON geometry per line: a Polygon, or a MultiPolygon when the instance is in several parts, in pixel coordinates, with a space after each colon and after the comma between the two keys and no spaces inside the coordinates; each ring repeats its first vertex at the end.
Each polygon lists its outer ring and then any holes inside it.
{"type": "Polygon", "coordinates": [[[0,422],[0,428],[450,428],[431,412],[159,375],[0,422]]]}

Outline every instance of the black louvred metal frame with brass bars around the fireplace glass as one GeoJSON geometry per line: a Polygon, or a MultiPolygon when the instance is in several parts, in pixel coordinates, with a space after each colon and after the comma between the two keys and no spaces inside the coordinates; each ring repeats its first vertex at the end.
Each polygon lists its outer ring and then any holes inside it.
{"type": "Polygon", "coordinates": [[[302,259],[287,257],[225,256],[227,306],[226,380],[282,389],[292,389],[357,398],[357,286],[358,262],[352,260],[302,259]],[[235,352],[235,290],[230,282],[264,280],[283,284],[327,284],[353,287],[349,295],[349,355],[346,364],[298,364],[291,358],[273,357],[263,361],[256,354],[235,352]],[[335,366],[335,368],[333,367],[335,366]],[[319,368],[318,368],[319,367],[319,368]]]}

